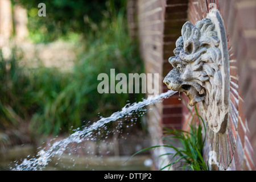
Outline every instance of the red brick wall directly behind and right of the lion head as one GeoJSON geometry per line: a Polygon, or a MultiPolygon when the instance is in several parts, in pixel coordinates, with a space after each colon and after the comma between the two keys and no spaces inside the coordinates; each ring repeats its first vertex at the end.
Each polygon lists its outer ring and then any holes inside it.
{"type": "MultiPolygon", "coordinates": [[[[210,3],[215,3],[217,9],[220,10],[226,27],[230,65],[229,128],[226,137],[208,132],[208,147],[205,147],[206,153],[209,150],[216,150],[219,161],[218,167],[220,169],[226,169],[228,167],[228,169],[232,170],[255,169],[253,164],[253,160],[255,162],[255,154],[250,141],[254,142],[255,140],[253,136],[255,136],[256,117],[253,111],[256,111],[256,82],[253,82],[253,77],[255,76],[256,70],[255,67],[254,69],[246,67],[256,57],[255,51],[252,51],[253,45],[254,47],[256,45],[255,2],[194,0],[189,1],[188,5],[188,19],[195,24],[197,20],[207,16],[211,8],[209,6],[210,3]],[[244,36],[245,34],[242,34],[244,32],[249,32],[247,39],[244,36]],[[251,38],[254,38],[254,40],[251,38]],[[249,60],[247,60],[248,58],[249,60]],[[246,96],[249,97],[247,100],[246,96]],[[247,103],[249,107],[244,107],[247,103]],[[246,113],[246,110],[249,111],[246,113]],[[249,124],[251,127],[248,127],[249,124]],[[221,144],[212,147],[214,143],[210,139],[213,137],[209,135],[214,135],[215,138],[217,137],[218,139],[213,141],[221,144]]],[[[255,146],[254,144],[253,147],[255,148],[255,146]]],[[[205,157],[208,157],[207,154],[205,154],[205,157]]]]}

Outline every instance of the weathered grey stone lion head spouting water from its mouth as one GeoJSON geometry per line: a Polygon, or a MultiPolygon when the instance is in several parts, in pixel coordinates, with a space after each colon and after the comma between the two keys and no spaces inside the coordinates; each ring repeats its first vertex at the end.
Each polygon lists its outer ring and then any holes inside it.
{"type": "Polygon", "coordinates": [[[229,57],[225,28],[218,11],[196,22],[186,22],[176,41],[169,89],[184,92],[189,105],[202,102],[203,117],[215,133],[224,133],[229,111],[229,57]]]}

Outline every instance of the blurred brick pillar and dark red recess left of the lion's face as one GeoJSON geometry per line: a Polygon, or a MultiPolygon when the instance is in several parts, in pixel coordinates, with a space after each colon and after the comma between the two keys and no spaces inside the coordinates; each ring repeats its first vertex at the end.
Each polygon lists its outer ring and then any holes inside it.
{"type": "MultiPolygon", "coordinates": [[[[130,0],[128,1],[128,18],[130,30],[134,32],[137,23],[141,55],[146,73],[159,73],[159,91],[167,92],[163,78],[172,69],[168,58],[173,56],[176,39],[187,21],[188,0],[130,0]],[[134,15],[136,12],[136,15],[134,15]],[[134,18],[136,17],[136,18],[134,18]]],[[[179,94],[164,100],[162,104],[150,106],[147,120],[152,130],[161,133],[162,126],[181,129],[182,105],[179,94]]],[[[151,133],[155,133],[152,131],[151,133]]],[[[162,134],[159,134],[160,137],[162,134]]],[[[156,136],[155,136],[156,137],[156,136]]]]}

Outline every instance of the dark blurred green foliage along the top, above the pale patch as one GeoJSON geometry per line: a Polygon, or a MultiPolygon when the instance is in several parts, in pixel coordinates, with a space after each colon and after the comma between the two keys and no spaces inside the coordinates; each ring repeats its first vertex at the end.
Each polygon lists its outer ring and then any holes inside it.
{"type": "Polygon", "coordinates": [[[92,22],[98,24],[117,16],[126,7],[126,1],[119,0],[13,0],[13,3],[21,3],[28,10],[28,30],[36,43],[51,42],[69,32],[86,36],[94,31],[92,22]],[[38,16],[39,3],[46,4],[46,17],[38,16]]]}

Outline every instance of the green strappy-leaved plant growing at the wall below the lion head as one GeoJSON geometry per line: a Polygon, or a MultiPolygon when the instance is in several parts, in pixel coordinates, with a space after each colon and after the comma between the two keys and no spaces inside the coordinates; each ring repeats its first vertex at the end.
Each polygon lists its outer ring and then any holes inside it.
{"type": "MultiPolygon", "coordinates": [[[[174,150],[174,153],[167,153],[160,156],[171,156],[170,162],[164,166],[161,170],[165,168],[170,168],[174,164],[179,164],[179,168],[191,169],[193,171],[208,171],[209,166],[205,164],[203,159],[203,147],[205,143],[205,137],[203,137],[203,130],[206,131],[203,118],[199,115],[197,108],[195,106],[196,113],[192,115],[192,121],[189,125],[190,131],[184,130],[170,130],[164,128],[164,145],[152,146],[144,148],[141,151],[138,151],[134,155],[139,154],[142,151],[154,149],[158,147],[167,147],[174,150]],[[198,123],[193,123],[194,117],[197,117],[199,120],[198,123]],[[203,123],[203,127],[200,124],[200,121],[203,123]],[[179,140],[181,146],[177,147],[174,143],[177,144],[176,140],[179,140]]],[[[133,156],[134,156],[133,155],[133,156]]],[[[159,156],[159,157],[160,157],[159,156]]]]}

